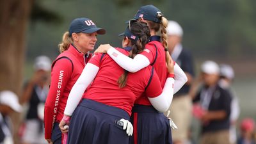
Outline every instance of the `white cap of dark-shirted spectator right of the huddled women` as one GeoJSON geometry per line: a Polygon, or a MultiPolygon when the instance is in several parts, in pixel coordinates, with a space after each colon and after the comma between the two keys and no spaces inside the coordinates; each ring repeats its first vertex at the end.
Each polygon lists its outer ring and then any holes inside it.
{"type": "Polygon", "coordinates": [[[204,61],[201,65],[201,71],[205,74],[220,74],[220,67],[214,61],[204,61]]]}

